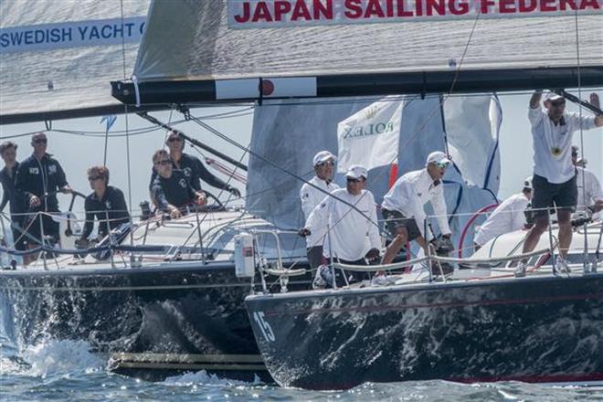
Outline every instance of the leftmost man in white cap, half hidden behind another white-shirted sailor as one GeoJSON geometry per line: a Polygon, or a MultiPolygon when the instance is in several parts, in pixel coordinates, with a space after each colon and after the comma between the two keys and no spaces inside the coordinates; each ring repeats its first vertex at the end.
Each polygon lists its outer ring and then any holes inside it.
{"type": "MultiPolygon", "coordinates": [[[[329,151],[321,151],[314,155],[312,161],[314,166],[314,177],[302,185],[300,197],[302,198],[302,210],[305,220],[308,220],[312,209],[323,201],[325,193],[331,193],[339,188],[333,183],[333,171],[337,158],[329,151]],[[321,191],[323,190],[323,191],[321,191]]],[[[313,231],[306,237],[306,253],[308,263],[312,270],[316,270],[323,263],[324,231],[313,231]]]]}

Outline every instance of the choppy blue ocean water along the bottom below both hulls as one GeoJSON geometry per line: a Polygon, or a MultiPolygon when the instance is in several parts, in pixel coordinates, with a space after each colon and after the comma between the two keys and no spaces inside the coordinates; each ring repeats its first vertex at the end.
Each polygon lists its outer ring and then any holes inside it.
{"type": "Polygon", "coordinates": [[[9,401],[603,401],[601,386],[444,381],[364,384],[315,392],[219,379],[205,372],[147,382],[119,376],[82,341],[16,347],[0,339],[0,400],[9,401]]]}

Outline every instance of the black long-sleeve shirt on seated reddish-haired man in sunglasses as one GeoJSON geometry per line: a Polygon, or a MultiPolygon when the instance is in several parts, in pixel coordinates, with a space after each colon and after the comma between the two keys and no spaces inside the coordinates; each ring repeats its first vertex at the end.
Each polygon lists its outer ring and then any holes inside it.
{"type": "Polygon", "coordinates": [[[130,222],[128,206],[122,190],[112,185],[108,185],[102,199],[92,192],[86,197],[84,203],[86,209],[86,223],[81,238],[88,238],[92,227],[94,226],[94,217],[99,220],[99,235],[105,237],[111,229],[119,227],[122,223],[130,222]],[[107,228],[107,217],[109,217],[109,228],[107,228]]]}

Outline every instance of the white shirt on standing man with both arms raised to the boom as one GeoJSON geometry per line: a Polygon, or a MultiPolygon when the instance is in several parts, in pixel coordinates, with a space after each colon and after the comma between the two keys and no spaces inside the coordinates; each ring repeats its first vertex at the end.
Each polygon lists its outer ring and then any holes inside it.
{"type": "Polygon", "coordinates": [[[574,177],[572,164],[572,136],[580,130],[590,130],[596,127],[595,116],[580,116],[577,113],[564,113],[564,124],[555,125],[543,109],[538,106],[530,108],[528,113],[532,123],[532,138],[534,140],[534,174],[545,177],[549,183],[566,183],[574,177]],[[559,154],[553,153],[554,149],[559,154]]]}

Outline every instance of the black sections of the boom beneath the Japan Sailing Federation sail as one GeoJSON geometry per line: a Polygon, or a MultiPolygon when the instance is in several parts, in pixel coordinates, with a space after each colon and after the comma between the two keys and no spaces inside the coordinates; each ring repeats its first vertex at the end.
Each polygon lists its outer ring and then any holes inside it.
{"type": "MultiPolygon", "coordinates": [[[[603,86],[603,66],[580,67],[582,87],[603,86]]],[[[259,79],[259,78],[258,78],[259,79]]],[[[269,79],[268,77],[265,79],[269,79]]],[[[538,69],[464,69],[402,73],[345,74],[316,77],[317,97],[384,96],[394,94],[474,93],[577,88],[577,67],[538,69]]],[[[135,104],[132,82],[112,81],[113,97],[135,104]]],[[[140,100],[147,104],[253,101],[255,98],[217,100],[216,80],[173,80],[139,83],[140,100]]],[[[266,97],[263,97],[266,99],[266,97]]],[[[278,99],[278,98],[271,98],[278,99]]]]}

